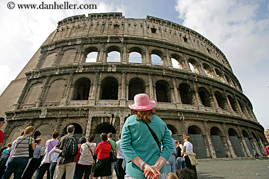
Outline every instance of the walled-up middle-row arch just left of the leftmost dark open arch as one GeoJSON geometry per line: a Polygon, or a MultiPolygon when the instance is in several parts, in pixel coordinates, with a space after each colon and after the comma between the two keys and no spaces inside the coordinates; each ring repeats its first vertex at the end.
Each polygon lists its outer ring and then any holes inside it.
{"type": "MultiPolygon", "coordinates": [[[[59,83],[59,81],[57,81],[57,82],[59,83]]],[[[67,87],[67,79],[66,78],[58,77],[58,78],[51,79],[50,82],[48,83],[48,85],[46,86],[44,101],[55,101],[55,99],[56,99],[56,101],[58,101],[58,100],[60,101],[61,99],[64,98],[66,87],[67,87]],[[64,81],[61,82],[60,84],[57,84],[57,83],[55,84],[55,81],[57,81],[57,80],[64,80],[64,81]],[[50,93],[51,93],[51,95],[50,95],[50,93]]]]}

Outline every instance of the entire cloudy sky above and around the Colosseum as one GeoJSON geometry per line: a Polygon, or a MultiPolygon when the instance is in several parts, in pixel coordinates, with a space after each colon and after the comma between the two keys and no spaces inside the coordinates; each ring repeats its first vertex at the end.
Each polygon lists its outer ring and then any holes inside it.
{"type": "Polygon", "coordinates": [[[19,9],[18,4],[62,4],[67,0],[0,0],[0,94],[57,28],[74,15],[122,12],[170,20],[200,33],[228,59],[251,101],[258,121],[269,129],[269,0],[72,0],[97,9],[19,9]],[[12,3],[15,4],[13,9],[12,3]],[[9,8],[8,8],[9,7],[9,8]]]}

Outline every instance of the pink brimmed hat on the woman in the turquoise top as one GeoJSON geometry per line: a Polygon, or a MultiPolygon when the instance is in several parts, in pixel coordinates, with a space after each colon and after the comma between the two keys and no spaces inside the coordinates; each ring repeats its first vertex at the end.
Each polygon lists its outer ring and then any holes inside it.
{"type": "Polygon", "coordinates": [[[129,104],[129,107],[135,111],[148,111],[155,108],[157,102],[150,100],[147,94],[137,94],[134,96],[134,104],[129,104]]]}

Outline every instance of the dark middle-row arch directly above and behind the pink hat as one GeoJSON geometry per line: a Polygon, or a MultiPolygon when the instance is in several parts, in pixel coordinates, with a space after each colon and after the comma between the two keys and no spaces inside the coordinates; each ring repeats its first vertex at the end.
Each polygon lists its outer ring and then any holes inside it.
{"type": "Polygon", "coordinates": [[[140,93],[146,93],[145,80],[139,77],[130,79],[128,85],[128,100],[134,100],[134,96],[140,93]]]}

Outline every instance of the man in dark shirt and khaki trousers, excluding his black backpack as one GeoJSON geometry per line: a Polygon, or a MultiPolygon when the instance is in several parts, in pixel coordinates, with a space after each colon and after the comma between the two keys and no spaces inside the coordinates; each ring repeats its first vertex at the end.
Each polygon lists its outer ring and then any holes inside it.
{"type": "MultiPolygon", "coordinates": [[[[61,154],[65,145],[66,140],[74,137],[76,139],[77,148],[80,148],[81,144],[79,142],[79,138],[74,136],[75,127],[73,125],[67,126],[67,135],[62,137],[55,146],[54,151],[61,154]]],[[[77,153],[75,154],[77,155],[77,153]]],[[[59,159],[55,168],[55,173],[53,179],[61,179],[63,174],[66,172],[66,179],[73,179],[75,173],[75,164],[76,164],[76,156],[65,158],[59,155],[59,159]]]]}

